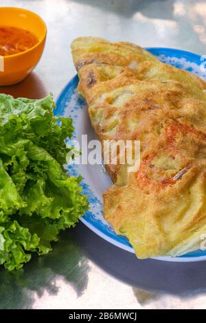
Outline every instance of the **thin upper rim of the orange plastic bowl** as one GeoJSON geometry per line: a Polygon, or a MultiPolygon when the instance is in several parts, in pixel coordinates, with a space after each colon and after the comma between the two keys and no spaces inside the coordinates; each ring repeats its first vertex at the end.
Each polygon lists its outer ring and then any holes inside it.
{"type": "Polygon", "coordinates": [[[41,23],[43,23],[43,26],[44,26],[44,35],[43,37],[38,41],[38,43],[36,43],[34,46],[24,50],[23,52],[20,52],[20,53],[17,53],[17,54],[12,54],[12,55],[5,55],[3,56],[3,59],[4,60],[8,60],[9,58],[12,58],[12,57],[17,57],[17,56],[21,56],[23,54],[26,54],[28,52],[31,52],[33,49],[35,49],[36,47],[38,47],[38,45],[40,45],[41,43],[43,43],[43,41],[45,41],[45,38],[47,36],[47,25],[45,23],[45,21],[41,18],[41,16],[39,16],[38,14],[36,14],[36,12],[32,11],[32,10],[27,10],[27,9],[24,9],[24,8],[19,8],[19,7],[0,7],[0,12],[1,10],[3,9],[8,9],[8,10],[14,10],[14,11],[21,11],[21,12],[29,12],[30,14],[33,14],[34,16],[36,16],[36,18],[41,21],[41,23]]]}

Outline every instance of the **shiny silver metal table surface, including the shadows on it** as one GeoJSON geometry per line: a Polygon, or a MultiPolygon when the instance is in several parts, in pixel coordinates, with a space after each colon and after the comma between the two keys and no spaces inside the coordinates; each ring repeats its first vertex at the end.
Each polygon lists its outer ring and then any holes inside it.
{"type": "MultiPolygon", "coordinates": [[[[14,96],[54,98],[76,74],[70,43],[102,36],[141,46],[206,54],[206,1],[0,0],[41,14],[45,52],[19,85],[0,87],[14,96]]],[[[60,235],[54,251],[33,256],[24,273],[0,269],[0,309],[205,309],[206,262],[137,260],[82,223],[60,235]]]]}

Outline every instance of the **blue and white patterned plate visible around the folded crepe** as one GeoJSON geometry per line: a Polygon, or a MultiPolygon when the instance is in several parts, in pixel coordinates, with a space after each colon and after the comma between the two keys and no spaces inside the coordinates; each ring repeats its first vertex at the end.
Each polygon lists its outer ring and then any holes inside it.
{"type": "MultiPolygon", "coordinates": [[[[190,52],[169,48],[147,48],[152,54],[157,56],[164,63],[190,71],[201,78],[206,79],[206,58],[192,54],[190,52]]],[[[91,127],[91,122],[87,113],[87,104],[77,93],[78,76],[75,76],[62,90],[56,102],[56,115],[73,118],[73,125],[76,132],[74,137],[81,142],[82,134],[88,135],[89,140],[96,139],[95,133],[91,127]]],[[[90,202],[89,211],[80,219],[93,232],[128,252],[134,252],[133,247],[124,236],[117,236],[113,228],[104,220],[102,214],[102,193],[111,185],[111,179],[108,177],[104,168],[100,165],[67,165],[71,175],[82,175],[83,193],[87,194],[90,202]]],[[[164,261],[192,262],[206,260],[206,251],[197,250],[181,257],[158,257],[155,258],[164,261]]]]}

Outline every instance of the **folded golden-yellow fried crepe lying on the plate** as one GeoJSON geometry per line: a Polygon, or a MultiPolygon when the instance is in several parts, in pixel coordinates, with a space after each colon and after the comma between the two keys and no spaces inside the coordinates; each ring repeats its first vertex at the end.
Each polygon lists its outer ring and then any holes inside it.
{"type": "Polygon", "coordinates": [[[199,249],[206,233],[206,83],[131,43],[71,45],[101,141],[140,140],[141,164],[108,165],[104,218],[139,258],[199,249]]]}

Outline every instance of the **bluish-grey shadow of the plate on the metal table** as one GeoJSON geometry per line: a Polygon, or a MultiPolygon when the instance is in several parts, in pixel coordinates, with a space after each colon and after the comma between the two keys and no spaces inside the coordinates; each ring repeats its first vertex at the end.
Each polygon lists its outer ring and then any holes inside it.
{"type": "MultiPolygon", "coordinates": [[[[194,296],[206,291],[206,261],[200,263],[169,263],[138,260],[91,232],[82,223],[75,230],[77,243],[108,274],[133,286],[134,291],[156,291],[177,296],[194,296]]],[[[155,294],[154,294],[155,297],[155,294]]]]}

